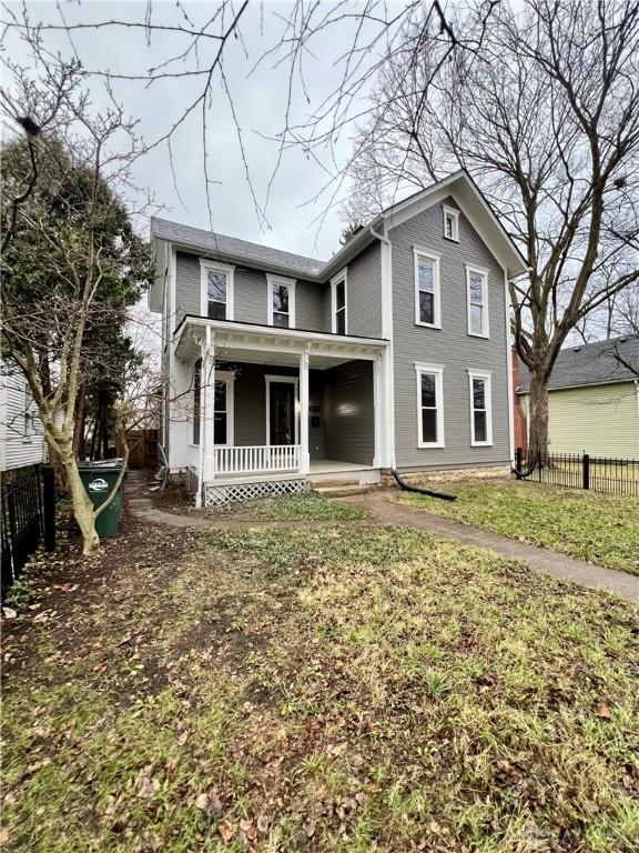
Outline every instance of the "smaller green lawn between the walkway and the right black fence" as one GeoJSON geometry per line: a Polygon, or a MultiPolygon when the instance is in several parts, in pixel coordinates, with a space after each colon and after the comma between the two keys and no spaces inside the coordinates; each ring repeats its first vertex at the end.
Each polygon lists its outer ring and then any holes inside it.
{"type": "Polygon", "coordinates": [[[433,489],[458,498],[454,503],[419,494],[399,493],[398,498],[508,539],[639,574],[639,498],[516,481],[437,484],[433,489]]]}

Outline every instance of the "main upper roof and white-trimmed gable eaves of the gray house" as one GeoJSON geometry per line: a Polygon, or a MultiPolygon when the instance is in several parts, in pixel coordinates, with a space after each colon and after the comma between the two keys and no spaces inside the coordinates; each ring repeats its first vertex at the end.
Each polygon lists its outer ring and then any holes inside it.
{"type": "Polygon", "coordinates": [[[195,249],[221,261],[244,262],[284,274],[327,281],[331,275],[338,272],[369,243],[379,238],[381,232],[373,233],[374,229],[381,228],[385,234],[400,222],[418,213],[420,209],[436,204],[447,195],[453,195],[457,201],[481,239],[505,267],[509,278],[515,278],[526,271],[525,258],[500,224],[475,181],[465,170],[454,172],[430,187],[409,195],[404,201],[386,208],[326,262],[271,249],[258,243],[251,243],[246,240],[239,240],[235,237],[227,237],[214,231],[182,225],[156,217],[151,219],[151,237],[166,240],[176,248],[195,249]]]}

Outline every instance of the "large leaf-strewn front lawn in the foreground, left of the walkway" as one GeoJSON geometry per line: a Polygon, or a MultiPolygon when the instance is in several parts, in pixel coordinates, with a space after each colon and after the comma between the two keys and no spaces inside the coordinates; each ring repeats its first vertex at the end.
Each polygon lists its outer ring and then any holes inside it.
{"type": "Polygon", "coordinates": [[[129,528],[45,583],[6,629],[8,851],[637,850],[617,599],[362,521],[129,528]]]}

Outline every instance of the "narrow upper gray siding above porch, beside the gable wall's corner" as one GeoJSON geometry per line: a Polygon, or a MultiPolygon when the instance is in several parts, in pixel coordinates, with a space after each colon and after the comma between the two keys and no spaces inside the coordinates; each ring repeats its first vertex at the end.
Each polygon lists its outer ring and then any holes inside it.
{"type": "Polygon", "coordinates": [[[346,289],[348,334],[382,337],[382,267],[375,242],[348,264],[346,289]]]}

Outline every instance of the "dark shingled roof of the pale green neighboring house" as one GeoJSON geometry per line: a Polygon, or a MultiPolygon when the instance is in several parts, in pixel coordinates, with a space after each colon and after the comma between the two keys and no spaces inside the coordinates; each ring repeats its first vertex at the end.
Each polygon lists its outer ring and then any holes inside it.
{"type": "MultiPolygon", "coordinates": [[[[552,368],[549,389],[602,385],[639,379],[639,335],[613,338],[561,350],[552,368]],[[626,364],[623,363],[626,362],[626,364]],[[635,368],[632,371],[627,364],[635,368]]],[[[521,364],[519,393],[530,390],[530,373],[521,364]]]]}

